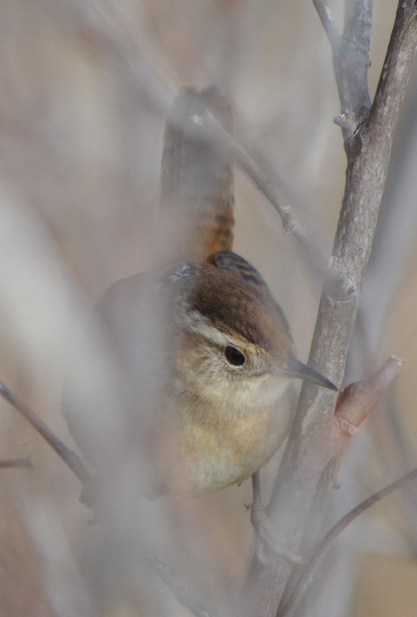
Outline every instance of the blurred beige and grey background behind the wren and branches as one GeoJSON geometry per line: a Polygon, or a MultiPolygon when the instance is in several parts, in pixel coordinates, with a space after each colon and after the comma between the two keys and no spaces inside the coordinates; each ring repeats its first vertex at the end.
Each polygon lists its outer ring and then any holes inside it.
{"type": "MultiPolygon", "coordinates": [[[[342,5],[331,2],[339,24],[342,5]]],[[[395,8],[393,0],[374,3],[371,97],[395,8]]],[[[86,422],[99,444],[117,441],[105,413],[111,381],[105,392],[97,385],[97,371],[112,368],[97,369],[99,346],[83,325],[111,283],[149,268],[170,104],[180,86],[212,83],[233,105],[239,141],[330,251],[345,156],[332,122],[339,101],[331,52],[310,0],[0,4],[0,379],[73,449],[61,399],[74,347],[86,422]]],[[[324,528],[416,466],[416,165],[415,65],[345,383],[369,376],[387,355],[407,363],[352,441],[324,528]]],[[[234,249],[270,284],[305,362],[321,282],[239,170],[236,204],[234,249]]],[[[1,400],[0,460],[27,455],[35,469],[0,470],[0,615],[189,615],[144,565],[136,534],[209,610],[233,607],[254,550],[250,482],[138,504],[128,480],[114,478],[112,517],[91,525],[80,482],[1,400]]],[[[279,455],[262,472],[265,501],[279,455]]],[[[414,617],[416,558],[410,485],[344,532],[308,614],[414,617]]]]}

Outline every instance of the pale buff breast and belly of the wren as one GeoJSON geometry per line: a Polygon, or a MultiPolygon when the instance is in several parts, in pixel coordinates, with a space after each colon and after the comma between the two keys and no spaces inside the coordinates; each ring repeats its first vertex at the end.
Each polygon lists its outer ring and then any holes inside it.
{"type": "Polygon", "coordinates": [[[291,383],[280,394],[274,405],[245,415],[229,410],[225,418],[210,410],[210,420],[217,416],[217,423],[191,421],[187,415],[171,440],[175,455],[171,453],[167,470],[170,490],[194,495],[219,491],[265,465],[283,443],[294,410],[291,383]]]}

